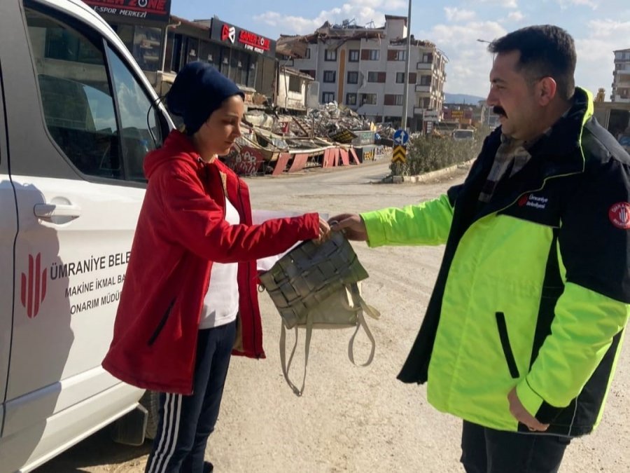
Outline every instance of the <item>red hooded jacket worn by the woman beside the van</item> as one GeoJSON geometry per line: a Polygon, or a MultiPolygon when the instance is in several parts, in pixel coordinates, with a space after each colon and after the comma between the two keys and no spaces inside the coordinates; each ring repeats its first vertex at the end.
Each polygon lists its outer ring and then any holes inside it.
{"type": "Polygon", "coordinates": [[[239,262],[235,354],[264,358],[255,260],[316,238],[318,214],[251,224],[249,191],[221,161],[204,163],[172,131],[146,156],[146,196],[103,366],[126,383],[190,394],[197,330],[213,261],[239,262]],[[225,221],[225,196],[242,224],[225,221]]]}

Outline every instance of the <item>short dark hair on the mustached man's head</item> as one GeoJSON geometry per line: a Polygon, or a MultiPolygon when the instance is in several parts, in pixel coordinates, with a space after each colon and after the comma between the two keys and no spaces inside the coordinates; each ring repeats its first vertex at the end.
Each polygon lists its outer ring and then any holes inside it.
{"type": "Polygon", "coordinates": [[[531,80],[552,77],[560,97],[573,97],[577,54],[573,38],[564,29],[553,25],[517,29],[492,41],[488,50],[496,54],[519,51],[517,71],[531,80]]]}

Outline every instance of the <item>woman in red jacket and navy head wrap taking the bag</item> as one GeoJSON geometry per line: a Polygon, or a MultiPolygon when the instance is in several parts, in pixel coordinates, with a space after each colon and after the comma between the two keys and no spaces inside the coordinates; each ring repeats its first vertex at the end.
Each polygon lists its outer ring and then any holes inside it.
{"type": "Polygon", "coordinates": [[[324,238],[318,214],[253,225],[246,184],[218,155],[241,135],[244,95],[208,64],[187,64],[167,95],[185,132],[146,156],[148,179],[111,347],[103,366],[161,392],[146,472],[204,462],[230,353],[264,358],[255,260],[324,238]]]}

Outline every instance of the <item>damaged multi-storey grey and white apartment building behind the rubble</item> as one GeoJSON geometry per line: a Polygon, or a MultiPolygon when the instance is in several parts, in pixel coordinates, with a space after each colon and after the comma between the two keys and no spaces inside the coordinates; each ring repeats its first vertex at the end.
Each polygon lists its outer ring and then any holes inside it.
{"type": "MultiPolygon", "coordinates": [[[[311,75],[320,103],[337,101],[361,116],[397,125],[402,117],[407,17],[386,15],[384,27],[326,22],[313,34],[281,36],[280,64],[311,75]]],[[[407,125],[422,129],[424,111],[441,110],[447,57],[429,41],[411,37],[407,125]]]]}

